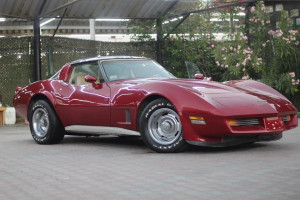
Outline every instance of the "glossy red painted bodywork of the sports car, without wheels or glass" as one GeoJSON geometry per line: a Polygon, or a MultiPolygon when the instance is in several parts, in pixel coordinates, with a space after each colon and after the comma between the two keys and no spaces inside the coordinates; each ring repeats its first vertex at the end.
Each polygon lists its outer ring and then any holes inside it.
{"type": "Polygon", "coordinates": [[[93,84],[74,86],[67,82],[71,70],[72,64],[66,64],[58,78],[19,88],[13,101],[17,112],[28,119],[31,103],[46,98],[64,126],[112,126],[138,131],[140,106],[159,96],[174,105],[184,139],[194,144],[220,143],[237,135],[278,134],[298,125],[295,106],[276,90],[256,81],[141,78],[96,84],[93,78],[86,77],[93,84]],[[288,122],[283,121],[286,115],[291,116],[288,122]],[[190,116],[203,117],[205,125],[191,123],[190,116]],[[276,120],[268,119],[272,117],[276,120]],[[227,122],[248,118],[260,124],[232,127],[227,122]]]}

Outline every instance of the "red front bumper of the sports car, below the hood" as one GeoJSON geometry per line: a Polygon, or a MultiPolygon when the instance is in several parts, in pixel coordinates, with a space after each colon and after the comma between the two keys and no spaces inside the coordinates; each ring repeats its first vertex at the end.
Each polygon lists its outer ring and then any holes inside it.
{"type": "MultiPolygon", "coordinates": [[[[203,116],[203,115],[202,115],[203,116]]],[[[247,116],[247,117],[223,117],[204,116],[206,124],[192,124],[189,118],[185,117],[183,123],[183,133],[185,140],[190,144],[202,146],[231,146],[242,143],[278,140],[286,130],[297,127],[298,119],[295,114],[290,114],[289,121],[285,121],[285,115],[273,116],[247,116]],[[256,125],[243,124],[231,126],[230,119],[253,119],[257,118],[256,125]],[[267,139],[270,138],[270,139],[267,139]],[[207,145],[206,145],[207,143],[207,145]]]]}

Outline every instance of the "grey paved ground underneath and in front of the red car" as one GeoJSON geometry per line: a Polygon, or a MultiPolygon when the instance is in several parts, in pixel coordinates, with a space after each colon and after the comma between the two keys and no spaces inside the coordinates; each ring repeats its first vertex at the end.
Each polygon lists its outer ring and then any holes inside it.
{"type": "Polygon", "coordinates": [[[280,141],[158,154],[135,138],[38,145],[0,127],[0,199],[300,199],[300,128],[280,141]]]}

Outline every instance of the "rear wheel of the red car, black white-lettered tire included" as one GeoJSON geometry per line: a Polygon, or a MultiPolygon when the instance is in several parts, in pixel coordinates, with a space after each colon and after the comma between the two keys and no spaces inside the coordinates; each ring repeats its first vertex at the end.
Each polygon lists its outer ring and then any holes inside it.
{"type": "Polygon", "coordinates": [[[52,107],[38,100],[29,108],[29,126],[33,139],[38,144],[59,143],[65,130],[52,107]]]}

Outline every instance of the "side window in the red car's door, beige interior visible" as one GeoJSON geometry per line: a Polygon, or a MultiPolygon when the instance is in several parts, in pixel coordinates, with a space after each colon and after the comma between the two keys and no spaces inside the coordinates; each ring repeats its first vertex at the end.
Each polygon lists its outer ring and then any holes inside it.
{"type": "Polygon", "coordinates": [[[103,82],[103,77],[99,69],[98,63],[84,63],[72,66],[72,72],[70,73],[69,83],[71,85],[88,85],[84,80],[86,75],[95,76],[97,78],[96,83],[103,82]]]}

